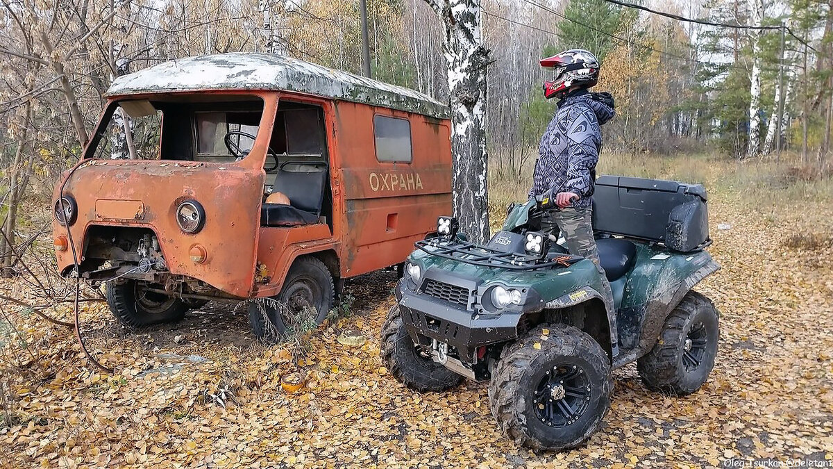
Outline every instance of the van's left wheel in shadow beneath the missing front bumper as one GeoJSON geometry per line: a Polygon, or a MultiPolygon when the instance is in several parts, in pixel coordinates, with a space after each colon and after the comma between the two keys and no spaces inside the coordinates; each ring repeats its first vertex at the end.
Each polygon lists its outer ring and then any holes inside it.
{"type": "Polygon", "coordinates": [[[188,306],[172,296],[147,291],[150,285],[138,280],[108,283],[106,297],[112,315],[133,328],[182,320],[188,306]]]}

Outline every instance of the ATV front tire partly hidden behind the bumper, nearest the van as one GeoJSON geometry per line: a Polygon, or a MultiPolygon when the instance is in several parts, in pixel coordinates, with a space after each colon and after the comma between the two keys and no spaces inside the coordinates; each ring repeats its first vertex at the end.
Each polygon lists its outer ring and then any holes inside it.
{"type": "Polygon", "coordinates": [[[463,381],[463,376],[420,355],[402,322],[399,305],[391,307],[382,325],[382,362],[394,379],[414,391],[447,391],[463,381]]]}

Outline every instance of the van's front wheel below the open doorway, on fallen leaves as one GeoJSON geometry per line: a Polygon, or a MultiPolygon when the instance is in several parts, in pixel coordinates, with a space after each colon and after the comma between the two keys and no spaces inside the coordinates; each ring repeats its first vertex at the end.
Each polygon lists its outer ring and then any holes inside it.
{"type": "Polygon", "coordinates": [[[249,322],[257,340],[277,343],[286,335],[319,325],[332,309],[335,287],[330,270],[321,260],[295,260],[281,293],[249,302],[249,322]]]}

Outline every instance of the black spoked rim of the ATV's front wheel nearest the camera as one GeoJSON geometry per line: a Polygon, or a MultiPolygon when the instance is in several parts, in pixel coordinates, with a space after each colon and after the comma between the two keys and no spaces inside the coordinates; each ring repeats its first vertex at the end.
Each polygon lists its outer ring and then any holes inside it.
{"type": "Polygon", "coordinates": [[[581,366],[550,366],[536,387],[532,405],[546,426],[564,427],[576,422],[590,404],[591,384],[581,366]]]}

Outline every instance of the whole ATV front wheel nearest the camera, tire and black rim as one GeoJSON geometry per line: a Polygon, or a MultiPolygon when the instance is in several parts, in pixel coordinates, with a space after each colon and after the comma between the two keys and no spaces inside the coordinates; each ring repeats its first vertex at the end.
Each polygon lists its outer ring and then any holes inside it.
{"type": "Polygon", "coordinates": [[[563,451],[599,428],[611,391],[611,362],[596,340],[571,325],[541,325],[501,352],[489,404],[516,443],[563,451]]]}

